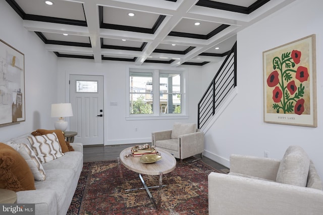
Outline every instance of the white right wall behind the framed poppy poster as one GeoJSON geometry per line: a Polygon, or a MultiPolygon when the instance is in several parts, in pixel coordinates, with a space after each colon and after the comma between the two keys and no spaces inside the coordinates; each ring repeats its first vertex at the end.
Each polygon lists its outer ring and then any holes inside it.
{"type": "Polygon", "coordinates": [[[238,33],[238,95],[205,135],[208,157],[229,166],[233,153],[263,157],[266,150],[281,159],[288,146],[299,145],[323,177],[322,8],[320,0],[298,0],[238,33]],[[264,123],[262,52],[311,34],[316,34],[317,127],[264,123]]]}

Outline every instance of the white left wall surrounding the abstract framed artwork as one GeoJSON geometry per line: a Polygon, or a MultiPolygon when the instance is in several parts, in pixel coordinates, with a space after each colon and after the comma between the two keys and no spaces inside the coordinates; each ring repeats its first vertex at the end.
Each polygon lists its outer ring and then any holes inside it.
{"type": "Polygon", "coordinates": [[[39,37],[23,27],[23,20],[0,1],[0,39],[25,55],[25,122],[0,127],[0,141],[37,128],[53,129],[50,104],[57,102],[57,56],[39,37]]]}

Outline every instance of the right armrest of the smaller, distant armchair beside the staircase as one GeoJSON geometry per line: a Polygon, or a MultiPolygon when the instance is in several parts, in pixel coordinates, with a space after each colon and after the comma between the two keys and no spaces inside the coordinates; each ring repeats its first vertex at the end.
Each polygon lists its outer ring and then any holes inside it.
{"type": "Polygon", "coordinates": [[[181,158],[188,158],[204,151],[204,133],[194,132],[178,136],[181,145],[181,158]]]}

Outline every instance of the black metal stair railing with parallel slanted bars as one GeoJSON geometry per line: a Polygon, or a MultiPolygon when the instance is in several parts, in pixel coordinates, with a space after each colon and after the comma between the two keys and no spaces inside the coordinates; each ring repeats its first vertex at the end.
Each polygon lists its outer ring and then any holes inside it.
{"type": "Polygon", "coordinates": [[[197,127],[202,128],[216,109],[237,86],[237,42],[198,102],[197,127]]]}

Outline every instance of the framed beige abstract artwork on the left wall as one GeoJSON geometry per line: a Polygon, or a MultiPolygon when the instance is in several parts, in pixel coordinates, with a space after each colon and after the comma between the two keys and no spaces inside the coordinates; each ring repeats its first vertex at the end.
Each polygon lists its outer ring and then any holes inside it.
{"type": "Polygon", "coordinates": [[[0,126],[25,121],[25,55],[0,40],[0,126]]]}

